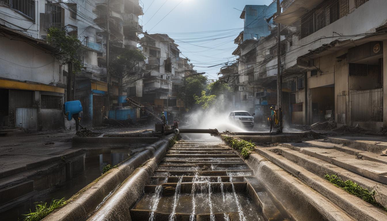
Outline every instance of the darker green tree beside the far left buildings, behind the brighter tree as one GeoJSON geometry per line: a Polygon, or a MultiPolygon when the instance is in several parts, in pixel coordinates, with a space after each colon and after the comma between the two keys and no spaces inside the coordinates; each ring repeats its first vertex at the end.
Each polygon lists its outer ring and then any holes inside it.
{"type": "Polygon", "coordinates": [[[180,90],[178,98],[184,101],[186,108],[192,109],[196,104],[194,96],[201,96],[206,86],[207,77],[203,75],[188,75],[185,77],[185,88],[180,90]]]}

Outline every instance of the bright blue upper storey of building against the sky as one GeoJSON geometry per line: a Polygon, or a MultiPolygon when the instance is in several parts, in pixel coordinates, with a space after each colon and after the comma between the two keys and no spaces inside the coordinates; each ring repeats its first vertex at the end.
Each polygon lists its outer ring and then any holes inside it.
{"type": "MultiPolygon", "coordinates": [[[[282,0],[281,0],[282,2],[282,0]]],[[[243,41],[248,39],[259,39],[268,36],[271,33],[269,24],[266,19],[277,12],[277,1],[274,0],[269,6],[267,5],[246,5],[245,9],[245,28],[243,30],[243,41]]]]}

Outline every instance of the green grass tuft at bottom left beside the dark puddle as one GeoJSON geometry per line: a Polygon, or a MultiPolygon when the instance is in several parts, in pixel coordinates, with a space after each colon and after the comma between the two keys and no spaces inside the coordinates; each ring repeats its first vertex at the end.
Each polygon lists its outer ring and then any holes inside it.
{"type": "Polygon", "coordinates": [[[50,214],[55,209],[65,205],[66,200],[65,198],[62,198],[52,200],[50,204],[47,204],[46,202],[36,202],[35,204],[34,212],[32,212],[30,209],[28,214],[23,214],[24,221],[39,221],[48,216],[48,214],[50,214]]]}

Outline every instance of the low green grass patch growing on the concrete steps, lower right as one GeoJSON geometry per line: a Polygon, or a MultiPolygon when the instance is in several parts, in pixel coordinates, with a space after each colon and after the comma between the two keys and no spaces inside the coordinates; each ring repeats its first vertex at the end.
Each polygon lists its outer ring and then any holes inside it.
{"type": "Polygon", "coordinates": [[[381,207],[382,209],[384,209],[384,211],[387,211],[387,208],[385,208],[384,206],[382,206],[382,204],[378,203],[375,200],[375,194],[376,194],[375,190],[372,190],[370,192],[370,190],[363,188],[363,187],[360,187],[359,184],[353,182],[352,180],[347,180],[344,182],[343,180],[341,180],[339,177],[337,177],[334,174],[333,175],[327,174],[324,176],[324,178],[325,178],[325,180],[328,180],[330,183],[332,183],[336,187],[342,188],[346,192],[348,192],[352,195],[355,195],[355,196],[363,199],[364,201],[366,201],[374,206],[381,207]]]}

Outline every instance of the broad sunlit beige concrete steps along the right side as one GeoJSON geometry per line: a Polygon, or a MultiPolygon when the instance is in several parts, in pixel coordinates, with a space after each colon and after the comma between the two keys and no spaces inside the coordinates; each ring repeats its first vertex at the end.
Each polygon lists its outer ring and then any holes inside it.
{"type": "MultiPolygon", "coordinates": [[[[362,163],[358,163],[356,160],[361,160],[356,159],[354,155],[334,149],[335,145],[332,144],[327,144],[328,148],[322,148],[321,145],[324,145],[324,143],[320,141],[310,142],[309,144],[320,147],[307,147],[308,145],[295,145],[291,147],[288,144],[284,145],[287,147],[261,147],[257,148],[256,152],[327,197],[327,199],[334,202],[354,219],[359,221],[387,220],[387,213],[382,209],[372,206],[354,195],[348,194],[341,188],[334,187],[334,185],[322,178],[325,174],[338,173],[339,175],[346,175],[351,180],[355,178],[354,182],[358,180],[361,181],[362,184],[367,183],[364,187],[383,185],[364,178],[358,175],[358,173],[354,174],[341,168],[342,165],[351,162],[356,166],[361,166],[363,170],[365,168],[370,169],[371,167],[369,165],[373,165],[376,162],[367,161],[364,163],[363,161],[362,163]],[[334,164],[334,162],[336,162],[336,164],[334,164]]],[[[384,167],[385,164],[378,163],[378,166],[384,167]]],[[[374,168],[372,169],[375,170],[374,168]]],[[[385,195],[385,187],[380,188],[380,190],[382,190],[381,197],[383,197],[385,195]]]]}

